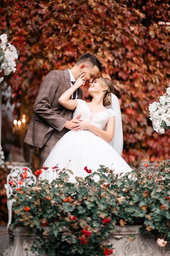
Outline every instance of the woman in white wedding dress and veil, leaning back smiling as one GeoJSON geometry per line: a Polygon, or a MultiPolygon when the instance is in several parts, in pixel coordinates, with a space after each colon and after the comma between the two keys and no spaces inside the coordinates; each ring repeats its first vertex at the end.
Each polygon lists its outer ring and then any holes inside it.
{"type": "MultiPolygon", "coordinates": [[[[84,73],[85,74],[85,73],[84,73]]],[[[56,178],[54,169],[66,168],[74,172],[75,177],[85,177],[104,165],[115,173],[130,172],[130,166],[121,157],[123,149],[123,131],[118,98],[113,94],[112,83],[103,77],[89,84],[91,102],[82,99],[70,99],[72,93],[84,86],[82,74],[75,84],[64,92],[58,102],[65,108],[75,110],[73,118],[81,115],[77,127],[67,132],[52,148],[44,166],[49,167],[47,175],[43,171],[39,179],[52,182],[56,178]],[[105,108],[106,107],[106,108],[105,108]]]]}

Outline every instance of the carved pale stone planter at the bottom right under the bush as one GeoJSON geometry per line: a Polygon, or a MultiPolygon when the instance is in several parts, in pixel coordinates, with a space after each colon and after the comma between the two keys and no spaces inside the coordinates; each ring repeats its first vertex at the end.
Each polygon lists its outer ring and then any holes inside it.
{"type": "Polygon", "coordinates": [[[115,248],[112,256],[170,256],[170,243],[158,246],[154,236],[141,236],[141,226],[117,226],[116,232],[109,236],[109,244],[115,248]],[[131,241],[128,235],[136,235],[131,241]]]}

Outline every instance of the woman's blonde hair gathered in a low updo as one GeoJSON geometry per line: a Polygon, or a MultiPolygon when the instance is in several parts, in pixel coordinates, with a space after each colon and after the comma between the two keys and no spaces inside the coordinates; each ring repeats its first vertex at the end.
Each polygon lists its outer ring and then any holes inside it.
{"type": "Polygon", "coordinates": [[[101,85],[101,87],[107,88],[107,91],[103,97],[103,105],[104,107],[109,106],[112,103],[111,93],[114,93],[113,84],[111,81],[109,81],[109,79],[104,78],[102,76],[98,77],[98,82],[101,85]]]}

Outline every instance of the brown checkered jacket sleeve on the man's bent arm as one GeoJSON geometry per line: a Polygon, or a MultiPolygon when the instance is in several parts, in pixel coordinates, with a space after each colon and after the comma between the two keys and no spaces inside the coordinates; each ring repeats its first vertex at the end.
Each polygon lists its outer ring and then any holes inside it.
{"type": "Polygon", "coordinates": [[[59,84],[60,75],[55,70],[50,71],[40,85],[37,99],[35,100],[34,112],[50,126],[61,131],[67,120],[51,109],[59,84]]]}

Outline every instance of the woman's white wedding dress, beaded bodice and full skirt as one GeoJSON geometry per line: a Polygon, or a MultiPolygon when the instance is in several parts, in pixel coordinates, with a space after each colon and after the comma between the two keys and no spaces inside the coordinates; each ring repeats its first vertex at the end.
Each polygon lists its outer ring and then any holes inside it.
{"type": "MultiPolygon", "coordinates": [[[[98,128],[104,130],[107,121],[111,116],[115,116],[112,109],[101,111],[96,114],[91,113],[88,105],[82,99],[77,99],[78,106],[75,109],[73,118],[81,114],[81,119],[92,122],[98,128]]],[[[68,131],[52,148],[43,166],[49,167],[48,172],[43,170],[39,179],[48,179],[52,182],[56,174],[52,170],[56,166],[62,170],[68,164],[68,169],[74,172],[70,175],[70,182],[75,182],[75,176],[85,177],[89,175],[84,167],[91,169],[92,172],[104,165],[115,173],[130,172],[130,166],[112,148],[109,143],[95,135],[92,131],[68,131]]]]}

